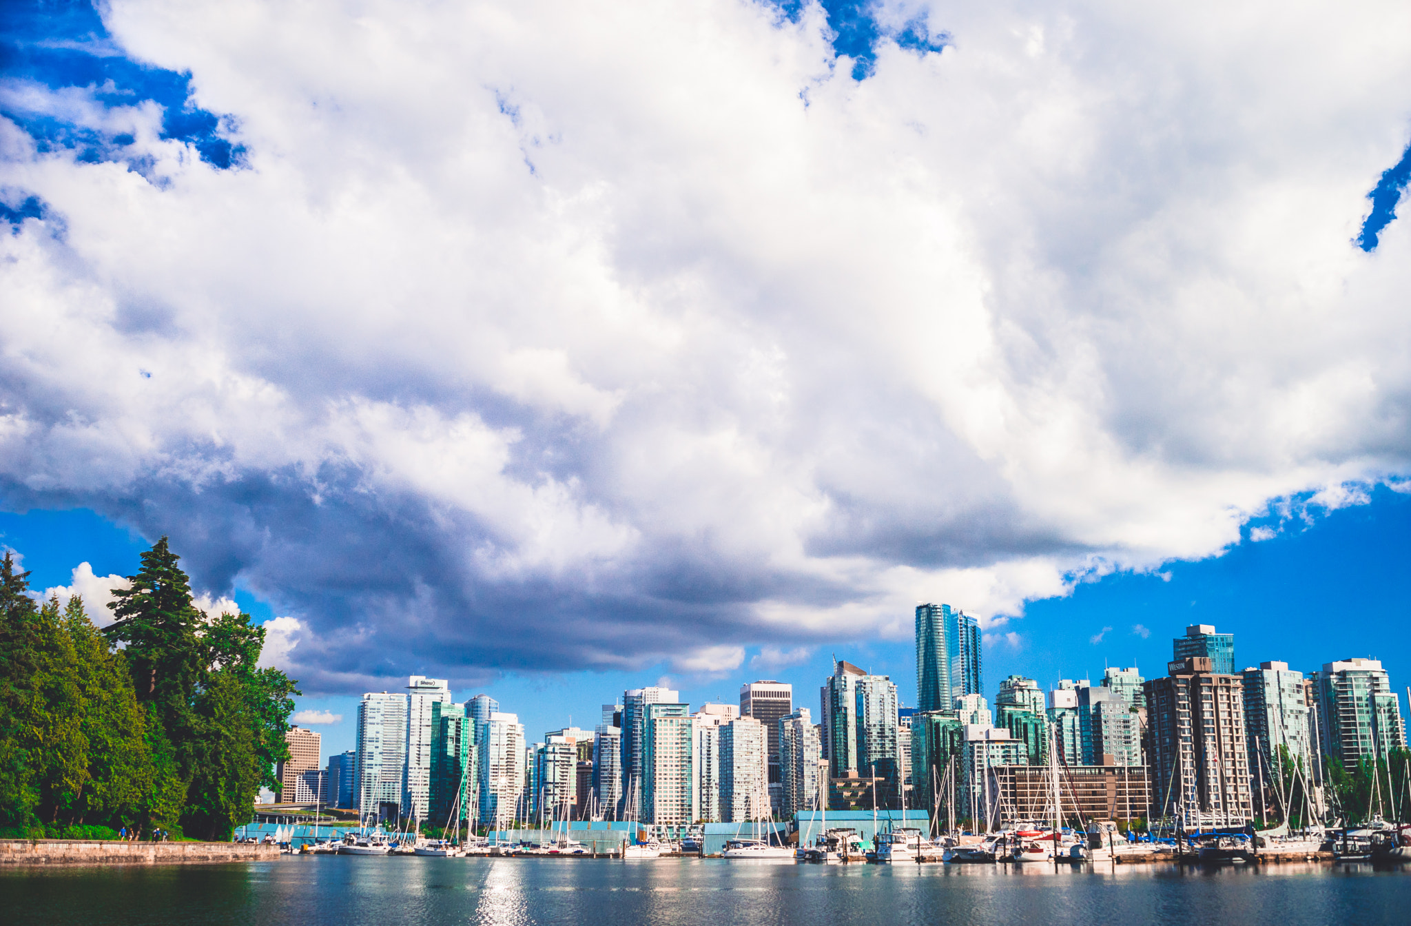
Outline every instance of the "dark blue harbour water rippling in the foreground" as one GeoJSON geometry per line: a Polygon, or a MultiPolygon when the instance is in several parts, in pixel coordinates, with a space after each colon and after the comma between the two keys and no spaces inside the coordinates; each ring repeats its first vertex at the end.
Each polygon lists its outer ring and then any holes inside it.
{"type": "Polygon", "coordinates": [[[0,910],[16,926],[1376,926],[1411,922],[1411,871],[316,855],[0,871],[0,910]]]}

